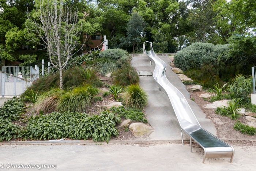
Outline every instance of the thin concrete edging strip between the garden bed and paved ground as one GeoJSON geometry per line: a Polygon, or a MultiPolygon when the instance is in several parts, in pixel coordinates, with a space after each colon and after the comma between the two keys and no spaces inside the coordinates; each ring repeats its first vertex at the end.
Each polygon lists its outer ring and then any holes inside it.
{"type": "MultiPolygon", "coordinates": [[[[256,141],[256,138],[245,138],[245,139],[222,139],[223,141],[241,141],[241,140],[249,140],[256,141]]],[[[184,142],[189,142],[189,140],[184,140],[184,142]]],[[[192,140],[192,142],[194,142],[192,140]]],[[[87,144],[181,144],[181,140],[126,140],[126,141],[116,141],[112,140],[108,143],[106,141],[95,142],[93,140],[63,140],[63,141],[4,141],[0,142],[0,145],[87,145],[87,144]]]]}

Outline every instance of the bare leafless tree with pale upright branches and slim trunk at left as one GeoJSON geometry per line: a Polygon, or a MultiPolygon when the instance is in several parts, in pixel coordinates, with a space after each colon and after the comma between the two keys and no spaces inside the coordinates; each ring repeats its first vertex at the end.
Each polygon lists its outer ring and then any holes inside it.
{"type": "Polygon", "coordinates": [[[68,60],[83,47],[73,52],[79,44],[82,22],[78,23],[78,9],[71,11],[71,7],[64,5],[63,0],[38,0],[32,15],[28,10],[26,22],[27,31],[36,35],[27,39],[47,48],[52,65],[60,71],[61,89],[63,69],[68,60]]]}

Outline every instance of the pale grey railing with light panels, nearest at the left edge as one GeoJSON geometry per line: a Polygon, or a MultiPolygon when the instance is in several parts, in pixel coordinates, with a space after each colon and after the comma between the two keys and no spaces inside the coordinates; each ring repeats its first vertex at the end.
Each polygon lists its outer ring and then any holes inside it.
{"type": "Polygon", "coordinates": [[[4,96],[19,96],[29,86],[29,80],[0,71],[0,93],[2,98],[4,96]]]}

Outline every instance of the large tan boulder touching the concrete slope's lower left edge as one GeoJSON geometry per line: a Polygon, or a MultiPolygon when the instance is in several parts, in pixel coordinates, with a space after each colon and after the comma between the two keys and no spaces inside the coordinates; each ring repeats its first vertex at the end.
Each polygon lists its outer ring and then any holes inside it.
{"type": "Polygon", "coordinates": [[[154,132],[153,128],[151,128],[150,126],[145,125],[144,123],[132,123],[129,126],[129,130],[132,131],[132,134],[135,137],[149,135],[152,132],[154,132]]]}

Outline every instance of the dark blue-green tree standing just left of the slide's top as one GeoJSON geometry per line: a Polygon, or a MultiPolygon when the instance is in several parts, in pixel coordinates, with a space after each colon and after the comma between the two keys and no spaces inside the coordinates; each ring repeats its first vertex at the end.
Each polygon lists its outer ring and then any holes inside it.
{"type": "Polygon", "coordinates": [[[121,46],[133,46],[133,53],[135,53],[135,45],[141,41],[146,24],[138,12],[133,12],[127,23],[127,37],[120,39],[121,46]]]}

